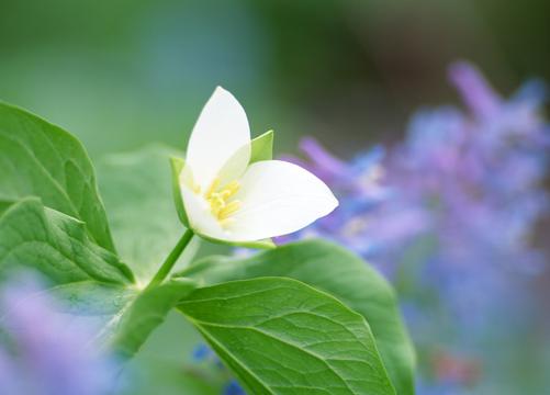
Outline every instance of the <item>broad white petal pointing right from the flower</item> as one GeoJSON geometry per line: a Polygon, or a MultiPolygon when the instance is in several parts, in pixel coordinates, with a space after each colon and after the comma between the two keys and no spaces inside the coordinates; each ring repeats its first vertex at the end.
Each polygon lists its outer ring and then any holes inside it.
{"type": "Polygon", "coordinates": [[[281,160],[250,165],[235,199],[242,201],[242,208],[227,230],[238,241],[296,232],[338,205],[333,192],[317,177],[281,160]]]}

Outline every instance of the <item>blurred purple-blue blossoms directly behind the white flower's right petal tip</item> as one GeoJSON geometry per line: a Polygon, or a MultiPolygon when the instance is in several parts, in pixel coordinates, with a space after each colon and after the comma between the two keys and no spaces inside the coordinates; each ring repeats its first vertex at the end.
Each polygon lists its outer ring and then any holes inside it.
{"type": "MultiPolygon", "coordinates": [[[[314,138],[304,138],[300,145],[306,160],[287,156],[290,160],[314,172],[338,196],[338,210],[296,234],[277,238],[278,244],[295,239],[322,237],[347,246],[364,258],[372,258],[391,246],[403,245],[426,227],[428,219],[422,210],[393,199],[399,193],[381,182],[384,177],[384,149],[374,147],[351,162],[335,158],[314,138]]],[[[388,264],[381,268],[391,272],[388,264]]]]}

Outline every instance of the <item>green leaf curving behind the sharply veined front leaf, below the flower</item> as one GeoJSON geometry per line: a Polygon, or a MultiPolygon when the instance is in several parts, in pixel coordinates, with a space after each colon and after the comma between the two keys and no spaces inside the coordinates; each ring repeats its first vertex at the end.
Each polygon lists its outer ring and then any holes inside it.
{"type": "Polygon", "coordinates": [[[414,393],[415,353],[395,293],[374,269],[344,248],[307,240],[249,258],[205,258],[181,274],[203,284],[288,276],[334,295],[369,323],[397,394],[414,393]]]}

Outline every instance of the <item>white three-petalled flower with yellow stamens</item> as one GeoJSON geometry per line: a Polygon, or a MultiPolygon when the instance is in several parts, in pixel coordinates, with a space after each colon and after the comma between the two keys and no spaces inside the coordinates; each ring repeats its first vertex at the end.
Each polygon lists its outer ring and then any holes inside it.
{"type": "Polygon", "coordinates": [[[328,187],[305,169],[250,159],[246,113],[218,87],[197,121],[179,177],[197,234],[229,242],[268,239],[296,232],[338,205],[328,187]]]}

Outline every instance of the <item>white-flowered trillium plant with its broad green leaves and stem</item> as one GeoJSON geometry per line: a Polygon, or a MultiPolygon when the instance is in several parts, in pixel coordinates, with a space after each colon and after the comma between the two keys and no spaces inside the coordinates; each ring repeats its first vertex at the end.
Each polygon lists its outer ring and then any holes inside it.
{"type": "Polygon", "coordinates": [[[0,104],[0,279],[40,272],[41,294],[122,370],[175,311],[247,394],[413,394],[414,351],[389,283],[338,245],[271,240],[338,210],[317,177],[273,160],[272,145],[272,132],[250,138],[245,111],[217,88],[187,155],[145,148],[94,169],[69,133],[0,104]],[[197,258],[201,240],[250,253],[197,258]]]}

